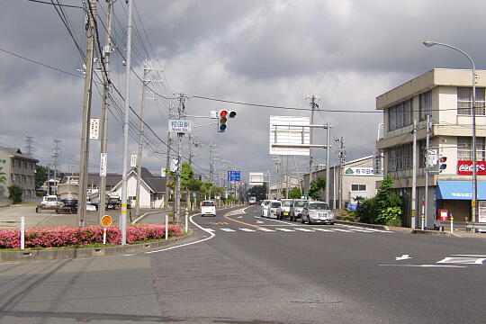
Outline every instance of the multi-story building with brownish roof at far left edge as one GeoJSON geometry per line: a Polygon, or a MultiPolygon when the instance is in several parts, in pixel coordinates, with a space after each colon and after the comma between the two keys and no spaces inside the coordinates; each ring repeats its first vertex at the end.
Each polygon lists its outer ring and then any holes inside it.
{"type": "Polygon", "coordinates": [[[0,148],[0,197],[8,197],[7,187],[17,184],[23,188],[23,198],[35,197],[35,166],[39,160],[23,154],[20,148],[0,148]]]}

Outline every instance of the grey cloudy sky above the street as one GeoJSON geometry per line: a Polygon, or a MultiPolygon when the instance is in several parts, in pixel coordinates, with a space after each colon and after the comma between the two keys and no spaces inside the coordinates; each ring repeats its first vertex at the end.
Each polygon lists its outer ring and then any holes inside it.
{"type": "MultiPolygon", "coordinates": [[[[79,166],[81,109],[84,80],[85,12],[80,0],[59,0],[62,12],[49,4],[2,0],[0,13],[0,145],[23,148],[33,137],[34,157],[49,161],[53,139],[62,148],[60,169],[79,166]],[[63,20],[61,20],[63,17],[63,20]],[[68,28],[67,28],[68,27],[68,28]],[[73,37],[70,36],[69,31],[73,37]],[[76,43],[81,50],[76,49],[76,43]]],[[[329,122],[331,137],[344,138],[347,160],[373,153],[378,124],[375,98],[434,67],[470,68],[469,61],[452,49],[425,48],[423,40],[436,40],[466,51],[479,69],[486,68],[484,13],[481,0],[135,0],[132,34],[130,105],[139,112],[143,60],[153,73],[145,121],[153,132],[143,165],[158,172],[166,161],[166,125],[174,94],[188,96],[189,115],[211,111],[238,112],[228,130],[215,125],[195,129],[201,143],[193,157],[196,172],[209,171],[210,144],[216,144],[216,171],[228,165],[248,172],[275,172],[268,153],[270,115],[309,116],[308,94],[320,95],[316,123],[329,122]],[[156,82],[162,81],[162,82],[156,82]],[[193,96],[257,103],[301,110],[271,109],[220,103],[193,96]],[[333,112],[327,112],[332,110],[333,112]],[[346,111],[346,112],[343,112],[346,111]],[[355,111],[355,112],[349,112],[355,111]],[[224,164],[226,160],[228,164],[224,164]]],[[[114,4],[111,79],[125,94],[122,65],[126,48],[128,6],[114,4]]],[[[98,4],[98,31],[105,41],[106,4],[98,4]]],[[[99,77],[94,77],[92,118],[101,115],[99,77]]],[[[121,173],[123,101],[113,91],[109,123],[108,171],[121,173]]],[[[210,123],[192,119],[193,125],[210,123]]],[[[133,122],[130,153],[136,153],[138,120],[133,122]]],[[[316,131],[316,141],[326,141],[316,131]]],[[[90,143],[90,168],[99,165],[99,141],[90,143]]],[[[25,151],[25,148],[23,148],[25,151]]],[[[331,162],[338,161],[336,146],[331,162]]],[[[316,149],[325,161],[325,150],[316,149]]],[[[188,157],[184,144],[184,157],[188,157]]],[[[295,169],[293,158],[291,167],[295,169]]],[[[300,171],[307,160],[296,159],[300,171]]]]}

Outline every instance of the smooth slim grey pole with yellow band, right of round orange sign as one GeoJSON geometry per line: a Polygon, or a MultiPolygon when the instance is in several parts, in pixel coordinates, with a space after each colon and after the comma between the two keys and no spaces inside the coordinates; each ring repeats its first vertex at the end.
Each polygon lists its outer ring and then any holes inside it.
{"type": "Polygon", "coordinates": [[[129,4],[127,23],[127,57],[125,70],[125,107],[123,119],[123,172],[121,175],[121,213],[120,231],[121,245],[127,244],[127,193],[128,193],[128,155],[129,155],[129,125],[130,125],[130,70],[131,70],[131,13],[133,0],[127,0],[129,4]]]}

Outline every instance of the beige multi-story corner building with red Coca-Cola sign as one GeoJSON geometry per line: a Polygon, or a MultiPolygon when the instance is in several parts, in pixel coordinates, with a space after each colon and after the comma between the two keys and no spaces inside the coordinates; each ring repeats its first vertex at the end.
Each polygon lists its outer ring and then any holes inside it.
{"type": "MultiPolygon", "coordinates": [[[[384,153],[384,175],[407,201],[406,221],[411,221],[413,123],[417,121],[417,211],[419,227],[425,202],[426,161],[429,160],[428,205],[425,224],[433,228],[438,210],[453,213],[455,220],[471,220],[473,199],[472,71],[432,69],[378,96],[383,111],[383,139],[376,146],[384,153]],[[429,115],[429,127],[427,119],[429,115]],[[429,129],[429,131],[428,131],[429,129]],[[429,132],[429,135],[428,135],[429,132]],[[426,148],[429,136],[428,150],[426,148]],[[428,154],[426,152],[428,151],[428,154]],[[437,158],[446,157],[442,170],[437,158]]],[[[486,71],[476,71],[476,152],[480,221],[486,222],[486,71]]],[[[424,208],[425,210],[425,208],[424,208]]]]}

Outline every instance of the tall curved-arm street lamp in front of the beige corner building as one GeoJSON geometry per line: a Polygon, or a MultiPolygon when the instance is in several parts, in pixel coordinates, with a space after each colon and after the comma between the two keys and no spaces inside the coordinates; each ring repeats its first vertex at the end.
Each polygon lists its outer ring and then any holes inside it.
{"type": "Polygon", "coordinates": [[[473,221],[478,221],[478,175],[476,169],[476,67],[474,66],[473,58],[467,55],[466,52],[462,49],[458,49],[454,46],[439,43],[437,41],[424,41],[423,44],[427,47],[432,47],[434,45],[445,46],[449,49],[455,49],[461,54],[463,54],[466,58],[471,61],[471,65],[473,66],[473,202],[471,202],[473,207],[473,221]]]}

